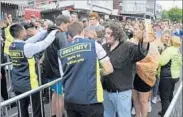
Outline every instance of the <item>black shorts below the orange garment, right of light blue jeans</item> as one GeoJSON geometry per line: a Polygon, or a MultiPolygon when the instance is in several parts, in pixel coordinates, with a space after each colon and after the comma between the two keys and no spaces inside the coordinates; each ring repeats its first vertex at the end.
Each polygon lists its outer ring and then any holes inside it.
{"type": "Polygon", "coordinates": [[[149,92],[152,90],[152,87],[146,84],[137,74],[134,79],[134,89],[139,92],[149,92]]]}

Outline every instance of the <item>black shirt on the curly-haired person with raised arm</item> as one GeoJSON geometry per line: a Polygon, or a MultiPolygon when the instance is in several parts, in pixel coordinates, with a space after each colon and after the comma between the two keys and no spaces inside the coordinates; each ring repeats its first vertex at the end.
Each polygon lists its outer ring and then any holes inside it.
{"type": "MultiPolygon", "coordinates": [[[[135,45],[130,42],[120,43],[114,50],[110,51],[110,46],[105,44],[106,50],[114,72],[104,76],[102,84],[107,91],[125,91],[133,88],[133,79],[136,73],[135,65],[148,53],[147,48],[143,48],[142,43],[135,45]]],[[[149,48],[149,44],[148,44],[149,48]]]]}

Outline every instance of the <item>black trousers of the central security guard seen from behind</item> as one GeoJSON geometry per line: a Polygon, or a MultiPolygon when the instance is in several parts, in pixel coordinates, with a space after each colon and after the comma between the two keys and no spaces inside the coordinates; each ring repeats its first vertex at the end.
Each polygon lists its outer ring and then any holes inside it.
{"type": "Polygon", "coordinates": [[[81,105],[73,103],[65,103],[68,117],[103,117],[103,104],[81,105]]]}

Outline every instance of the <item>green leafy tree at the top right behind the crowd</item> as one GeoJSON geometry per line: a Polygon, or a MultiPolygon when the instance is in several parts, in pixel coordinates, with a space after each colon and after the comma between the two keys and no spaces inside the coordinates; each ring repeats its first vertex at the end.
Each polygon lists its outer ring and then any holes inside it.
{"type": "Polygon", "coordinates": [[[182,9],[178,7],[168,10],[167,14],[171,21],[182,21],[182,9]]]}

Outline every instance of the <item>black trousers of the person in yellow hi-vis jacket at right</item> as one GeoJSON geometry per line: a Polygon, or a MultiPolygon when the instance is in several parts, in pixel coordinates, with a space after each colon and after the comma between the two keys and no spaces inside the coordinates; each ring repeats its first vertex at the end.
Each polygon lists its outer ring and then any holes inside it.
{"type": "Polygon", "coordinates": [[[159,84],[159,92],[161,98],[161,106],[162,106],[162,115],[165,114],[168,109],[172,99],[173,99],[173,91],[175,88],[175,84],[179,79],[167,79],[161,78],[159,84]]]}

